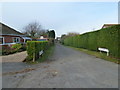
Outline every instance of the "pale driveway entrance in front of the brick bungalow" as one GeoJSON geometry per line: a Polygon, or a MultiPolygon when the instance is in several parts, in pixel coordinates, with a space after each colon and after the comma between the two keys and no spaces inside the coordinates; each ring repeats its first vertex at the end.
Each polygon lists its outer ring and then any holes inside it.
{"type": "Polygon", "coordinates": [[[13,72],[24,69],[28,65],[22,61],[26,58],[27,52],[19,52],[7,56],[0,56],[2,58],[2,72],[13,72]]]}

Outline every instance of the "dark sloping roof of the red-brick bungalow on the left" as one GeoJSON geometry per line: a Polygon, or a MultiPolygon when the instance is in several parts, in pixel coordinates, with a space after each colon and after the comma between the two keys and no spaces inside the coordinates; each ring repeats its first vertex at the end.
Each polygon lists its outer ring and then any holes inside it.
{"type": "Polygon", "coordinates": [[[0,23],[0,32],[2,35],[24,35],[3,23],[0,23]]]}

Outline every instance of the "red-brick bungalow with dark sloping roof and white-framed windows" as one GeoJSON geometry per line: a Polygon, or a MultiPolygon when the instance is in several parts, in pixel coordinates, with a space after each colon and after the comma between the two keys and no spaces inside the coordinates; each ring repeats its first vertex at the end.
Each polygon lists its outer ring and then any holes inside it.
{"type": "Polygon", "coordinates": [[[0,23],[0,46],[11,46],[16,43],[25,44],[28,40],[32,39],[15,29],[0,23]]]}

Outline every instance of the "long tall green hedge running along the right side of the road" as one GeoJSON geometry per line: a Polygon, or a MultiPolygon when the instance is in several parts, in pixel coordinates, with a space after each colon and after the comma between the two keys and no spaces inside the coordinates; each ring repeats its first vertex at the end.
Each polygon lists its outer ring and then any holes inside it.
{"type": "Polygon", "coordinates": [[[111,56],[120,58],[120,25],[67,37],[64,44],[94,51],[99,47],[107,48],[111,56]]]}

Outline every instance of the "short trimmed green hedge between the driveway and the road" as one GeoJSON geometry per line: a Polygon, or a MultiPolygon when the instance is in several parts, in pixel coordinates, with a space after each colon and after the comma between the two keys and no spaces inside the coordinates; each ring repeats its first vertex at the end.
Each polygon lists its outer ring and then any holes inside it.
{"type": "Polygon", "coordinates": [[[28,60],[37,60],[39,58],[39,51],[45,51],[48,48],[48,41],[28,41],[27,42],[27,54],[28,60]],[[33,57],[34,56],[34,57],[33,57]]]}

